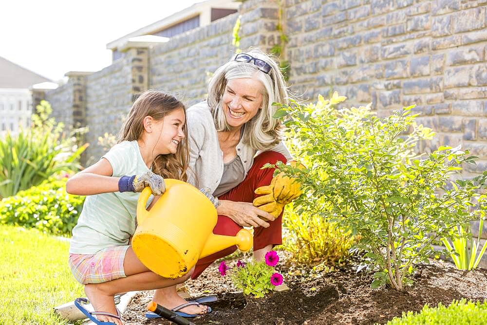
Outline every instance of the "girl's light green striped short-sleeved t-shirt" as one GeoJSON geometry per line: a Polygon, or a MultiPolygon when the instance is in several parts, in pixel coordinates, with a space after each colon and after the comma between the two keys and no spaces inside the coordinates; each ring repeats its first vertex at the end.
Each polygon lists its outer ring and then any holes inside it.
{"type": "MultiPolygon", "coordinates": [[[[112,165],[113,177],[141,175],[150,170],[142,159],[137,141],[116,144],[102,158],[112,165]]],[[[69,253],[94,254],[108,247],[128,245],[135,232],[139,195],[112,192],[87,196],[73,228],[69,253]]],[[[151,199],[152,196],[149,203],[151,199]]]]}

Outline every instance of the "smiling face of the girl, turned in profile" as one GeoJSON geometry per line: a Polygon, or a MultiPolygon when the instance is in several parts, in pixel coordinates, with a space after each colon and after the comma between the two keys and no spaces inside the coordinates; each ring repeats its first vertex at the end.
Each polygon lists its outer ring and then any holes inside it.
{"type": "Polygon", "coordinates": [[[172,110],[161,121],[153,121],[152,136],[155,139],[155,150],[158,155],[175,154],[179,143],[184,138],[186,114],[183,108],[172,110]]]}

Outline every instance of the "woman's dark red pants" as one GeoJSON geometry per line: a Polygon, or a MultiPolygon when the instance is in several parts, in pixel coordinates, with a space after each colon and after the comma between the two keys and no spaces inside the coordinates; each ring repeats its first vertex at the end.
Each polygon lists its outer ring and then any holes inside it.
{"type": "MultiPolygon", "coordinates": [[[[254,193],[254,190],[260,186],[269,185],[272,181],[272,174],[274,173],[274,168],[261,169],[261,167],[267,162],[274,164],[278,161],[285,163],[287,160],[279,152],[262,152],[255,157],[254,163],[248,171],[244,181],[225,194],[222,194],[218,199],[236,202],[252,202],[255,198],[260,197],[260,195],[254,193]]],[[[274,221],[269,221],[269,224],[270,226],[268,228],[254,228],[254,251],[260,250],[267,245],[274,246],[282,244],[282,212],[274,221]]],[[[241,229],[243,229],[243,227],[235,223],[229,217],[219,215],[216,226],[213,228],[213,234],[235,236],[241,229]]],[[[228,256],[236,250],[237,246],[232,246],[198,260],[191,278],[196,279],[215,260],[228,256]]]]}

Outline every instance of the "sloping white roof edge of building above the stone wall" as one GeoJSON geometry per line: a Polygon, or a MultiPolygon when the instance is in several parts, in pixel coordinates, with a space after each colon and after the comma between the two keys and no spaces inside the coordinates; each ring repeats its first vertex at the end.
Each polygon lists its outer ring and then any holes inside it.
{"type": "Polygon", "coordinates": [[[240,2],[237,2],[237,0],[206,0],[197,2],[169,17],[158,20],[130,34],[115,39],[107,44],[107,49],[116,50],[118,47],[123,47],[123,44],[131,37],[150,35],[165,28],[169,28],[170,26],[173,26],[188,18],[196,17],[202,14],[205,10],[210,10],[211,8],[238,9],[239,5],[240,2]]]}

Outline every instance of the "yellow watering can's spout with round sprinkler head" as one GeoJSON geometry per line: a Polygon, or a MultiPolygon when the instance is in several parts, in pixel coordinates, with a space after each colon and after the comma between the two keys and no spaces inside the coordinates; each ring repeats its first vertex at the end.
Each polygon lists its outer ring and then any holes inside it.
{"type": "Polygon", "coordinates": [[[240,230],[235,236],[209,235],[200,258],[224,250],[231,246],[237,246],[242,252],[248,252],[252,248],[253,237],[246,229],[240,230]]]}

